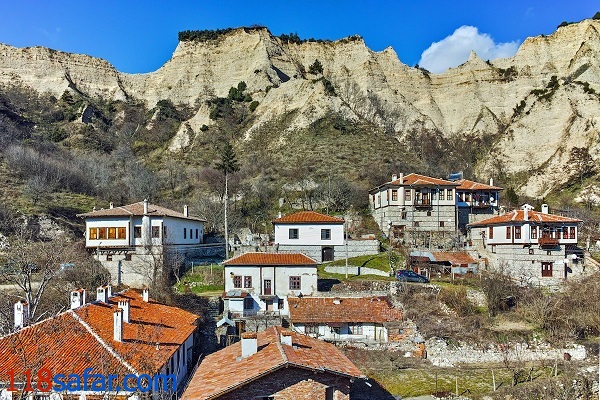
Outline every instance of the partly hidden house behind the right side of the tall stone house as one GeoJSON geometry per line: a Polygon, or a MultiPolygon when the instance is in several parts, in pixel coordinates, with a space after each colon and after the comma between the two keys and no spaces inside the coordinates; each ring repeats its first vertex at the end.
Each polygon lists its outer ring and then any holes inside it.
{"type": "Polygon", "coordinates": [[[463,234],[467,232],[467,224],[498,214],[500,210],[498,195],[503,189],[494,186],[492,179],[490,179],[489,185],[468,179],[460,179],[456,183],[460,184],[456,187],[458,229],[463,234]]]}

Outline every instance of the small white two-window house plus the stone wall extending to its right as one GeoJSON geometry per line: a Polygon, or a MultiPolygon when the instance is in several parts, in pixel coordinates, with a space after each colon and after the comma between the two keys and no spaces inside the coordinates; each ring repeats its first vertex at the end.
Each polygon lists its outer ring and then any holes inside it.
{"type": "Polygon", "coordinates": [[[273,220],[279,251],[299,252],[319,263],[379,253],[379,241],[350,239],[352,221],[315,211],[299,211],[273,220]],[[347,240],[345,240],[345,236],[347,240]]]}

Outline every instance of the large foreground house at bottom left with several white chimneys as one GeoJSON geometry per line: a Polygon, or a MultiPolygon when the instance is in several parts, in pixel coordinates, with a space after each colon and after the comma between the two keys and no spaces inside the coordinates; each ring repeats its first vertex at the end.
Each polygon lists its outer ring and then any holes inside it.
{"type": "Polygon", "coordinates": [[[159,398],[181,392],[196,361],[198,315],[158,303],[147,290],[127,289],[113,295],[110,286],[97,288],[92,302],[87,302],[85,290],[73,291],[69,302],[68,311],[31,325],[28,304],[15,305],[16,331],[0,338],[1,399],[124,400],[135,394],[125,390],[124,382],[135,388],[136,380],[144,377],[142,385],[148,390],[139,390],[138,395],[146,391],[159,398]],[[63,374],[63,382],[68,381],[72,390],[55,385],[50,392],[24,392],[26,370],[34,388],[39,374],[43,377],[43,371],[48,371],[55,378],[63,374]],[[73,376],[79,379],[74,381],[73,376]],[[11,381],[16,391],[7,389],[11,381]]]}

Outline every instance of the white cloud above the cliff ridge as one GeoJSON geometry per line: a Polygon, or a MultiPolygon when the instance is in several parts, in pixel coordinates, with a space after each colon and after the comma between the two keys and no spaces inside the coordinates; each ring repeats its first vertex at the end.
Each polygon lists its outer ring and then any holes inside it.
{"type": "Polygon", "coordinates": [[[439,42],[434,42],[421,54],[419,65],[433,73],[444,72],[469,59],[471,50],[483,60],[512,57],[519,42],[494,43],[487,33],[479,33],[474,26],[461,26],[439,42]]]}

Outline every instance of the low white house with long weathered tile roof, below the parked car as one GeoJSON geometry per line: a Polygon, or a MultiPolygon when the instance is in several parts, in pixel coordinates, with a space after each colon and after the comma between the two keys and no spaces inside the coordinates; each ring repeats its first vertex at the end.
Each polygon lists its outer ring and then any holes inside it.
{"type": "Polygon", "coordinates": [[[402,310],[387,297],[293,297],[288,299],[292,329],[327,341],[390,340],[402,310]]]}

